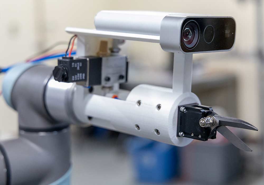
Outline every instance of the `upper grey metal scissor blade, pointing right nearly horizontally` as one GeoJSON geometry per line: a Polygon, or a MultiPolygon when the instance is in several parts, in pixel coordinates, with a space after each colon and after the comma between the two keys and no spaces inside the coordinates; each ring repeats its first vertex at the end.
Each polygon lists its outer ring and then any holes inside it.
{"type": "Polygon", "coordinates": [[[218,121],[219,125],[222,126],[232,126],[237,128],[243,128],[248,130],[256,130],[258,131],[257,127],[251,125],[250,123],[237,119],[237,118],[231,118],[227,116],[220,116],[220,115],[214,115],[213,116],[216,121],[218,121]]]}

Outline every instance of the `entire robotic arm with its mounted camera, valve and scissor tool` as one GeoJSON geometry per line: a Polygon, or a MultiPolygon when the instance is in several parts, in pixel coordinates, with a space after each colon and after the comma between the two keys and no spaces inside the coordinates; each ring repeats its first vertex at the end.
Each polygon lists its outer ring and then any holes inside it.
{"type": "Polygon", "coordinates": [[[101,11],[95,27],[66,28],[78,37],[77,58],[66,55],[55,69],[16,66],[5,76],[3,96],[18,111],[20,137],[0,143],[0,185],[68,185],[70,123],[176,146],[215,139],[218,131],[236,147],[252,151],[226,126],[256,127],[218,115],[191,93],[192,54],[231,50],[232,17],[101,11]],[[91,55],[95,37],[112,38],[111,53],[102,41],[100,52],[91,55]],[[172,89],[146,84],[130,92],[119,89],[128,81],[127,57],[119,54],[122,40],[159,43],[173,52],[172,89]]]}

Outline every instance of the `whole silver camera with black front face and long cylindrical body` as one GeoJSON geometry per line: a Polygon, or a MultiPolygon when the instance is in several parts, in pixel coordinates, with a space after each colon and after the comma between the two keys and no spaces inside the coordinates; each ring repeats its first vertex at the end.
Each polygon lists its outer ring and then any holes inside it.
{"type": "Polygon", "coordinates": [[[233,17],[146,11],[101,11],[96,30],[159,36],[164,51],[203,53],[229,51],[235,42],[233,17]]]}

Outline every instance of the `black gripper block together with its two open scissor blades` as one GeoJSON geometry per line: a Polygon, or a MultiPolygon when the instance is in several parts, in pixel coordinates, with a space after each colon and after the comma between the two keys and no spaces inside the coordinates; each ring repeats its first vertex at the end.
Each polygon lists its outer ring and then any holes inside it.
{"type": "Polygon", "coordinates": [[[258,129],[246,121],[220,116],[211,107],[203,105],[184,105],[178,108],[178,133],[179,137],[188,137],[201,141],[216,138],[216,131],[227,138],[237,148],[252,152],[241,139],[239,139],[226,126],[243,128],[248,130],[258,129]]]}

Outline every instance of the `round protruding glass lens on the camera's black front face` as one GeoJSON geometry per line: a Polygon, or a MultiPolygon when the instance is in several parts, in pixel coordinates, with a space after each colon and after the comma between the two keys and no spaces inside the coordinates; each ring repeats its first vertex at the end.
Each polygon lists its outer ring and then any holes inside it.
{"type": "Polygon", "coordinates": [[[182,41],[184,46],[192,49],[196,46],[199,40],[199,27],[195,21],[189,21],[183,28],[182,41]]]}

